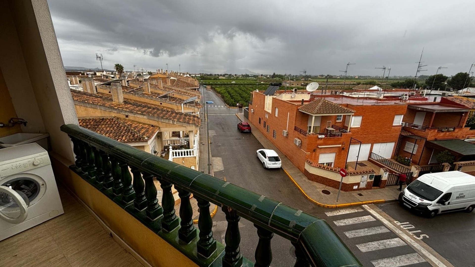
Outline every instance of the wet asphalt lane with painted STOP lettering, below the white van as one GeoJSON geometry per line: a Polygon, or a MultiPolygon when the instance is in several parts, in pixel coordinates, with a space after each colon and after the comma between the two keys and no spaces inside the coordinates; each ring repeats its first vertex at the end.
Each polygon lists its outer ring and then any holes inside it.
{"type": "Polygon", "coordinates": [[[420,230],[414,234],[452,265],[475,266],[475,212],[439,214],[429,219],[404,209],[398,202],[381,203],[377,206],[408,228],[407,230],[420,230]]]}

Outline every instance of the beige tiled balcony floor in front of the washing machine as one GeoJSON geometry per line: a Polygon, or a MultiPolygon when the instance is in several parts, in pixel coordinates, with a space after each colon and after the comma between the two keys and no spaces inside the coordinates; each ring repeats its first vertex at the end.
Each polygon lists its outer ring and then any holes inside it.
{"type": "Polygon", "coordinates": [[[0,266],[143,267],[58,187],[64,214],[0,241],[0,266]]]}

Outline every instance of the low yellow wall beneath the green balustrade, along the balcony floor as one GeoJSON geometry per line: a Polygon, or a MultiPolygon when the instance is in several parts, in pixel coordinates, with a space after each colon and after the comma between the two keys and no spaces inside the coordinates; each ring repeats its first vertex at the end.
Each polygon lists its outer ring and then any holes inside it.
{"type": "Polygon", "coordinates": [[[154,267],[197,267],[188,257],[173,248],[120,208],[112,200],[97,191],[68,167],[52,158],[55,176],[79,197],[104,223],[114,231],[127,245],[154,267]]]}

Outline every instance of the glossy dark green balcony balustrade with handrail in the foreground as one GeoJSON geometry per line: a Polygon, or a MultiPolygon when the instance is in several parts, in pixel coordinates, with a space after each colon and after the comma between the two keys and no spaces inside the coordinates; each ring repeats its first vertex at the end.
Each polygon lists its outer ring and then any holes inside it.
{"type": "Polygon", "coordinates": [[[61,130],[73,142],[73,172],[199,266],[253,266],[239,252],[241,217],[257,229],[254,266],[270,266],[274,234],[295,246],[295,267],[362,266],[323,219],[76,124],[63,125],[61,130]],[[154,177],[163,190],[162,206],[157,202],[154,177]],[[175,215],[172,185],[181,199],[180,218],[175,215]],[[190,193],[201,211],[198,229],[193,224],[190,193]],[[209,202],[222,207],[226,214],[226,246],[213,238],[209,202]]]}

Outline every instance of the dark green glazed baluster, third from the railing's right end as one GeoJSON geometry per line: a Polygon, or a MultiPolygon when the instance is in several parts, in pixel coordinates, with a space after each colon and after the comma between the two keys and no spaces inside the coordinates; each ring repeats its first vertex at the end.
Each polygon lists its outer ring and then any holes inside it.
{"type": "Polygon", "coordinates": [[[226,248],[224,248],[223,267],[242,266],[242,255],[240,253],[239,243],[241,243],[241,233],[239,232],[239,220],[241,216],[237,211],[227,206],[221,208],[226,214],[228,228],[226,229],[226,248]]]}

